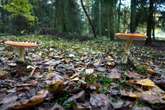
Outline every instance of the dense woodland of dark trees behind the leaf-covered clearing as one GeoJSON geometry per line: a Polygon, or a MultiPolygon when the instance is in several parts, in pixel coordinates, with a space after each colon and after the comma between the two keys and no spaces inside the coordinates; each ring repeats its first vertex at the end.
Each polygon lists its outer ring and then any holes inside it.
{"type": "Polygon", "coordinates": [[[165,0],[1,0],[0,33],[84,40],[117,32],[164,37],[165,0]],[[159,33],[160,35],[155,35],[159,33]]]}

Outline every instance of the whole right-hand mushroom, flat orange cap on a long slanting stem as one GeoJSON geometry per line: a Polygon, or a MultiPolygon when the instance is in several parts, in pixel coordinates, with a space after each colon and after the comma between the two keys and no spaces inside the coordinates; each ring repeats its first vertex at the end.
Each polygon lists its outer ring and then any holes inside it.
{"type": "Polygon", "coordinates": [[[145,40],[146,36],[144,34],[138,34],[138,33],[116,33],[115,37],[121,40],[126,40],[127,43],[124,47],[125,55],[122,59],[123,63],[127,63],[128,56],[130,54],[130,47],[133,44],[134,40],[145,40]]]}

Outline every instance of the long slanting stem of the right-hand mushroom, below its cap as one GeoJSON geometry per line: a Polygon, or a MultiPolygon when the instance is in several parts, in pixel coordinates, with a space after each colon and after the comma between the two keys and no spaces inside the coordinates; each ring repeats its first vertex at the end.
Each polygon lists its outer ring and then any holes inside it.
{"type": "Polygon", "coordinates": [[[133,40],[128,40],[127,44],[124,47],[124,56],[122,58],[122,63],[127,64],[128,62],[128,57],[130,55],[130,47],[133,44],[133,40]]]}

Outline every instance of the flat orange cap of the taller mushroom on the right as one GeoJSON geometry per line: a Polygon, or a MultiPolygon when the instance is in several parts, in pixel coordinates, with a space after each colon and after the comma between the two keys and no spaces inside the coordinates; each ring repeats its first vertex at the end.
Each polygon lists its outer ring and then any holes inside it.
{"type": "Polygon", "coordinates": [[[145,40],[146,36],[144,34],[138,33],[116,33],[115,36],[123,40],[145,40]]]}

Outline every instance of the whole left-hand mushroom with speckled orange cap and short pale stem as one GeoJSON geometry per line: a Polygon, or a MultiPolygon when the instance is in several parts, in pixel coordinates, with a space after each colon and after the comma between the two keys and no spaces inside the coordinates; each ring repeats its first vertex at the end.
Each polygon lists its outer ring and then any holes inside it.
{"type": "Polygon", "coordinates": [[[17,42],[17,41],[5,41],[6,45],[17,48],[19,50],[20,61],[24,62],[25,48],[38,47],[36,43],[32,42],[17,42]]]}

